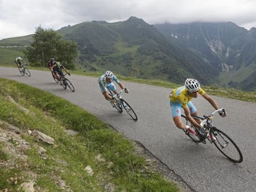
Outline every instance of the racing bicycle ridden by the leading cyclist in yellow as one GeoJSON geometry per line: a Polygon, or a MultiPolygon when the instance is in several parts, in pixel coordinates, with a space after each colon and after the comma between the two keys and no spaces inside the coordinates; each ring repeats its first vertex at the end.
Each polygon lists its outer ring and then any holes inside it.
{"type": "Polygon", "coordinates": [[[202,122],[200,126],[205,129],[205,134],[202,135],[200,131],[192,125],[192,123],[187,120],[185,115],[181,117],[186,122],[186,125],[189,125],[192,130],[197,134],[193,135],[187,130],[184,130],[186,135],[189,136],[195,143],[206,143],[207,136],[210,134],[210,143],[214,143],[216,148],[226,156],[230,161],[241,163],[243,161],[242,152],[238,148],[237,144],[223,131],[213,126],[213,118],[216,112],[226,113],[224,109],[218,109],[210,115],[203,115],[203,117],[193,116],[194,119],[200,119],[202,122]]]}

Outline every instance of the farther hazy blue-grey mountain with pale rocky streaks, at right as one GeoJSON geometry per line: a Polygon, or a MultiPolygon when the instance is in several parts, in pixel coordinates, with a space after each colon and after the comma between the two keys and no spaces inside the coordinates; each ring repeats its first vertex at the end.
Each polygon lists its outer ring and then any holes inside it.
{"type": "Polygon", "coordinates": [[[154,25],[167,38],[196,52],[231,87],[256,90],[256,28],[249,31],[232,22],[154,25]]]}

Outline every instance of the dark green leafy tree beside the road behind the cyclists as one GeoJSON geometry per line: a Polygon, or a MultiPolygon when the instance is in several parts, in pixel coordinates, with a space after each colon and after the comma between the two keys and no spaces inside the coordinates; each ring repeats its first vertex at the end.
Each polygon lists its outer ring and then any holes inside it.
{"type": "Polygon", "coordinates": [[[34,42],[25,50],[30,64],[46,67],[49,59],[54,57],[56,61],[65,64],[67,69],[74,69],[77,56],[77,44],[74,41],[62,40],[59,33],[51,29],[45,30],[41,26],[36,28],[33,38],[34,42]]]}

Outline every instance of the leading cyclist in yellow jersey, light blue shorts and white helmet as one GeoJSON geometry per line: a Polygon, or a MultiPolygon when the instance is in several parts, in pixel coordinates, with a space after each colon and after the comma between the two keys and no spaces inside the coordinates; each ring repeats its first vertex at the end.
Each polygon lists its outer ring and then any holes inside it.
{"type": "MultiPolygon", "coordinates": [[[[184,113],[189,120],[198,130],[203,134],[204,129],[200,127],[200,119],[193,119],[192,116],[198,115],[197,109],[194,104],[191,102],[193,98],[197,98],[198,94],[202,95],[208,102],[210,102],[211,106],[215,109],[219,109],[218,104],[215,102],[213,98],[211,98],[202,88],[200,88],[200,83],[194,78],[187,78],[185,81],[185,85],[179,88],[174,89],[170,93],[170,106],[171,112],[173,115],[173,121],[176,127],[181,129],[187,129],[190,133],[197,135],[197,133],[192,130],[188,125],[185,125],[181,119],[181,108],[184,109],[184,113]]],[[[220,113],[222,117],[226,116],[224,113],[220,113]]],[[[210,135],[207,135],[210,138],[210,135]]]]}

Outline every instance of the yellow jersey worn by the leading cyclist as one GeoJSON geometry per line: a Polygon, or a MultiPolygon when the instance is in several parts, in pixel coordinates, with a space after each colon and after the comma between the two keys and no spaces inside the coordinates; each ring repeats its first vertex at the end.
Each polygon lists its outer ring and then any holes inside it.
{"type": "MultiPolygon", "coordinates": [[[[199,94],[204,94],[205,91],[203,91],[202,88],[199,88],[198,90],[199,94]]],[[[187,107],[187,102],[189,102],[191,99],[193,99],[192,96],[189,96],[186,86],[181,86],[179,88],[174,89],[170,94],[170,100],[171,102],[180,102],[182,104],[182,107],[187,107]]]]}

